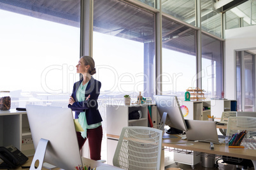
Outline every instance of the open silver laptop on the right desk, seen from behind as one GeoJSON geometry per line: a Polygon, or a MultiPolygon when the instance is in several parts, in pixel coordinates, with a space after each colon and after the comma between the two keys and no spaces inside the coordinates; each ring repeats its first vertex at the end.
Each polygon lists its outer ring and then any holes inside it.
{"type": "Polygon", "coordinates": [[[213,142],[215,144],[223,143],[219,140],[216,122],[185,120],[188,130],[186,131],[187,140],[213,142]]]}

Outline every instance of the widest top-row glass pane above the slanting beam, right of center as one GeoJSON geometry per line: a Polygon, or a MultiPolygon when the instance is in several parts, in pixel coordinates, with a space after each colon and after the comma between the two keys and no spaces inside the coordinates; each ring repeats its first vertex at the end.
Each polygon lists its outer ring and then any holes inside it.
{"type": "Polygon", "coordinates": [[[190,25],[196,26],[195,1],[162,0],[162,11],[190,25]]]}

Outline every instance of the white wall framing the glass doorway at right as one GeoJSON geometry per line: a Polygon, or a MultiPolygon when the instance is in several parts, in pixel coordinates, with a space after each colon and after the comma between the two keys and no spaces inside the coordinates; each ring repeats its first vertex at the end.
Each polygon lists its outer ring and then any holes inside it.
{"type": "Polygon", "coordinates": [[[224,91],[229,100],[236,100],[235,51],[252,48],[256,48],[256,25],[225,30],[224,91]]]}

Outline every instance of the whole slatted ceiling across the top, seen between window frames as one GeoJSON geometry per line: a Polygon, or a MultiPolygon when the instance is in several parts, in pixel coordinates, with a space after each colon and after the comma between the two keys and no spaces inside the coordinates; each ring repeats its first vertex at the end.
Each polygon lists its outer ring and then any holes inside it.
{"type": "MultiPolygon", "coordinates": [[[[152,5],[152,0],[141,0],[152,5]]],[[[237,27],[238,19],[244,18],[245,24],[256,22],[256,1],[248,0],[201,0],[201,22],[204,30],[220,37],[220,13],[228,11],[227,25],[237,27]],[[215,9],[216,3],[227,4],[215,9]],[[243,2],[243,4],[240,4],[243,2]],[[231,9],[231,10],[230,10],[231,9]],[[253,20],[250,20],[252,16],[253,20]]],[[[155,39],[154,20],[151,12],[143,12],[139,8],[129,8],[132,4],[118,0],[94,0],[94,31],[124,37],[139,42],[150,42],[155,39]],[[148,13],[148,14],[147,14],[148,13]]],[[[23,15],[59,22],[74,27],[80,27],[80,0],[0,0],[0,9],[13,11],[23,15]]],[[[195,25],[195,4],[191,0],[162,0],[162,11],[195,25]]],[[[163,19],[163,25],[168,20],[163,19]]],[[[163,28],[163,46],[189,49],[195,48],[195,32],[189,27],[178,23],[163,28]],[[171,29],[171,31],[170,31],[171,29]],[[171,39],[170,39],[171,37],[171,39]],[[169,39],[168,39],[169,38],[169,39]],[[178,41],[180,44],[176,44],[178,41]]],[[[193,51],[193,50],[192,50],[193,51]]]]}

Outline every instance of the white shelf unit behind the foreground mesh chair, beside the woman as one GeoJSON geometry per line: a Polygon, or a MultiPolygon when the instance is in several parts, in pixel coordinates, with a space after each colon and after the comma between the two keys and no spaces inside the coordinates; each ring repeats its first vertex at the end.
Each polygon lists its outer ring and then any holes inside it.
{"type": "Polygon", "coordinates": [[[106,105],[106,133],[107,133],[107,163],[112,164],[113,155],[117,148],[118,138],[122,128],[127,126],[149,126],[148,107],[152,110],[152,124],[157,126],[160,117],[157,117],[157,106],[155,104],[141,105],[106,105]],[[129,120],[129,113],[140,110],[140,119],[129,120]]]}

